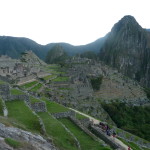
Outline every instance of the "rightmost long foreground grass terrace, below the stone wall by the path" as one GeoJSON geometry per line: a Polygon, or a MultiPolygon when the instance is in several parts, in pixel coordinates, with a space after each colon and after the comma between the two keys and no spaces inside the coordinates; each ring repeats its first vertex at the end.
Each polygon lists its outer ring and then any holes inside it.
{"type": "Polygon", "coordinates": [[[76,126],[69,119],[59,119],[78,139],[82,150],[109,150],[109,148],[103,147],[99,142],[95,141],[76,126]]]}

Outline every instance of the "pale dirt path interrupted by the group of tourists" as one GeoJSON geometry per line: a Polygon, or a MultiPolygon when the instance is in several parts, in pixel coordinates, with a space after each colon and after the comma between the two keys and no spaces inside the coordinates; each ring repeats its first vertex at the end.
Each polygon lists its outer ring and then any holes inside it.
{"type": "MultiPolygon", "coordinates": [[[[90,121],[93,121],[93,123],[94,124],[99,124],[99,120],[97,120],[97,119],[95,119],[95,118],[93,118],[93,117],[91,117],[91,116],[89,116],[89,115],[87,115],[87,114],[84,114],[84,113],[82,113],[82,112],[80,112],[80,111],[78,111],[78,110],[75,110],[75,109],[72,109],[72,108],[69,108],[70,110],[73,110],[73,111],[75,111],[76,113],[79,113],[79,114],[81,114],[81,115],[83,115],[83,116],[85,116],[85,117],[88,117],[89,119],[90,119],[90,121]]],[[[128,150],[128,146],[127,145],[125,145],[122,141],[120,141],[119,139],[117,139],[117,138],[114,138],[114,137],[110,137],[115,143],[117,143],[118,145],[120,145],[121,146],[121,149],[120,150],[128,150]]]]}

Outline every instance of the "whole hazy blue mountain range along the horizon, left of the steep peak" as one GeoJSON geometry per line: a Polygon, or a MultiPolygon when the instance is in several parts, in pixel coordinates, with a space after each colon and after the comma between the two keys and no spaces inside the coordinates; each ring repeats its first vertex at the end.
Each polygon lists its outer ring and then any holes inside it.
{"type": "Polygon", "coordinates": [[[105,38],[100,38],[90,44],[81,46],[73,46],[67,43],[50,43],[47,45],[40,45],[28,38],[0,36],[0,55],[8,55],[12,58],[19,58],[22,52],[32,50],[39,58],[45,60],[48,51],[58,44],[62,46],[68,55],[75,55],[86,51],[98,53],[104,41],[105,38]]]}

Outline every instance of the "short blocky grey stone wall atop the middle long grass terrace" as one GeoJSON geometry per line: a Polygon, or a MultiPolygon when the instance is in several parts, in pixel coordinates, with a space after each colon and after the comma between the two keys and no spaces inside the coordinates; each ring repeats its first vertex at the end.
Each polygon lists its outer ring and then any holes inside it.
{"type": "Polygon", "coordinates": [[[31,104],[31,108],[35,112],[46,112],[47,111],[45,102],[36,102],[34,104],[31,104]]]}

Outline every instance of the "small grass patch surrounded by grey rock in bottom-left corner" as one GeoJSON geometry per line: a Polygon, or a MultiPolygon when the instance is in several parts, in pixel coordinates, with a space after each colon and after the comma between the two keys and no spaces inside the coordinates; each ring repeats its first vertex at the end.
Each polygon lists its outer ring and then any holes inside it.
{"type": "Polygon", "coordinates": [[[22,146],[22,143],[21,143],[21,142],[16,141],[16,140],[14,140],[14,139],[12,139],[12,138],[5,138],[5,142],[6,142],[9,146],[11,146],[11,147],[13,147],[13,148],[19,148],[19,147],[22,146]]]}

